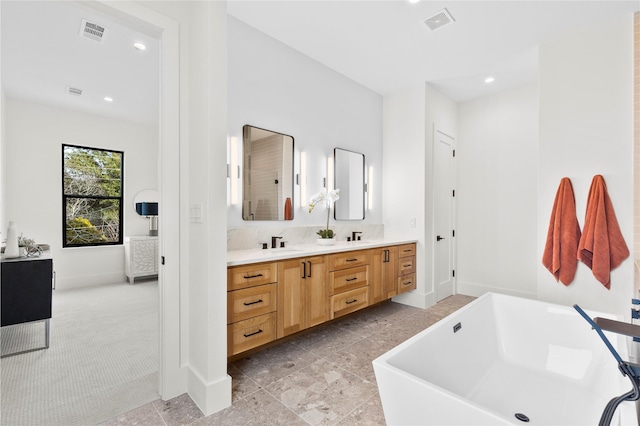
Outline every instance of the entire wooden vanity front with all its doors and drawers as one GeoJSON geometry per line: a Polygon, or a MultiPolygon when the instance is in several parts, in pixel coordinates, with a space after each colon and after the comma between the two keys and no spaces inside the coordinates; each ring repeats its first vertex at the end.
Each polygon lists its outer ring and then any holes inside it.
{"type": "Polygon", "coordinates": [[[228,356],[415,288],[415,243],[230,266],[228,356]]]}

